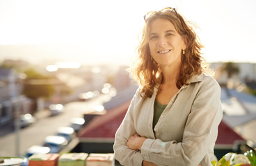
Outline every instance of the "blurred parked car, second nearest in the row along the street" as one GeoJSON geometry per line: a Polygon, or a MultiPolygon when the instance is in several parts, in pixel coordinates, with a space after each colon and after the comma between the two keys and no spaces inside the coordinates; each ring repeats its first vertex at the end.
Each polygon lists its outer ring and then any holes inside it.
{"type": "Polygon", "coordinates": [[[58,153],[67,145],[67,140],[63,136],[47,136],[45,138],[45,144],[43,146],[49,147],[49,153],[58,153]]]}

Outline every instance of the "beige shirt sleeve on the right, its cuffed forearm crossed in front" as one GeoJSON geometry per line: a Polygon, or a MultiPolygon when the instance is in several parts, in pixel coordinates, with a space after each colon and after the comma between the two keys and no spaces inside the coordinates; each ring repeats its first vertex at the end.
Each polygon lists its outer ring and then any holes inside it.
{"type": "MultiPolygon", "coordinates": [[[[182,142],[147,138],[141,147],[143,160],[157,165],[199,165],[216,142],[222,119],[220,98],[221,88],[214,79],[208,77],[202,81],[186,121],[182,142]]],[[[205,165],[209,164],[210,160],[205,165]]]]}

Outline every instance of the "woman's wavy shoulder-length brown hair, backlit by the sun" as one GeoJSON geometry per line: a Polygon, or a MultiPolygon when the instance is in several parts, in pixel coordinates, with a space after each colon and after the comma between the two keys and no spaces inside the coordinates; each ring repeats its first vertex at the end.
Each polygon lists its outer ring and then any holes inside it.
{"type": "Polygon", "coordinates": [[[150,12],[150,17],[145,20],[145,25],[142,31],[142,37],[138,46],[138,58],[134,62],[130,70],[134,74],[135,80],[141,86],[141,96],[143,98],[151,98],[154,87],[161,84],[163,74],[159,68],[159,64],[151,59],[149,47],[150,24],[155,19],[168,19],[177,33],[186,41],[185,55],[182,56],[182,64],[179,71],[179,77],[176,83],[178,89],[184,84],[188,84],[187,80],[193,75],[199,75],[202,71],[207,71],[208,65],[205,59],[201,56],[200,50],[202,45],[193,30],[195,26],[189,21],[185,21],[182,15],[179,15],[176,10],[154,11],[150,12]]]}

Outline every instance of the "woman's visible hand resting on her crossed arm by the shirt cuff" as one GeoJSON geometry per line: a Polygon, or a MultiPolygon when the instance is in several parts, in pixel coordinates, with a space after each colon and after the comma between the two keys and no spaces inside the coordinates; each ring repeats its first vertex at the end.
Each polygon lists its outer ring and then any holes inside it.
{"type": "Polygon", "coordinates": [[[134,136],[131,136],[127,142],[127,147],[131,150],[141,150],[141,146],[143,145],[143,142],[147,138],[139,136],[137,133],[134,134],[134,136]]]}

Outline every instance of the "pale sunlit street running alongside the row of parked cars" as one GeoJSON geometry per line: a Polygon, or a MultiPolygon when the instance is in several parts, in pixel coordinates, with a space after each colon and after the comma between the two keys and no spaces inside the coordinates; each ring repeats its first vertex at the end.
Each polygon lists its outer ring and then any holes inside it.
{"type": "Polygon", "coordinates": [[[35,124],[19,131],[19,151],[17,151],[17,134],[10,132],[0,137],[0,156],[23,156],[32,145],[42,145],[46,136],[54,135],[58,127],[70,126],[71,118],[83,118],[83,113],[93,111],[94,107],[111,99],[101,94],[88,102],[70,102],[65,104],[64,112],[57,116],[49,116],[49,110],[39,111],[35,124]]]}

